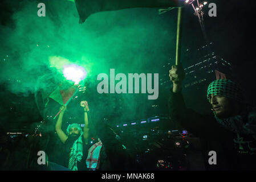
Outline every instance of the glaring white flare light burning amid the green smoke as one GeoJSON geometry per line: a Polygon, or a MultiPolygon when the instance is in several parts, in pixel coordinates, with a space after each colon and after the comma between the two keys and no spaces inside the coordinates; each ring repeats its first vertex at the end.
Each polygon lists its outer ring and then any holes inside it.
{"type": "Polygon", "coordinates": [[[83,67],[79,67],[76,64],[64,65],[63,75],[67,80],[72,80],[76,84],[79,84],[81,80],[86,78],[87,72],[83,67]]]}

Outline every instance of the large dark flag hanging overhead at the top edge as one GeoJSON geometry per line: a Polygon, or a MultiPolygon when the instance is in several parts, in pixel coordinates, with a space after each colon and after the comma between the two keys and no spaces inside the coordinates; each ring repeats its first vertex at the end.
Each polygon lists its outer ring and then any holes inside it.
{"type": "Polygon", "coordinates": [[[83,23],[88,16],[100,11],[122,10],[134,7],[177,7],[178,0],[75,0],[83,23]]]}

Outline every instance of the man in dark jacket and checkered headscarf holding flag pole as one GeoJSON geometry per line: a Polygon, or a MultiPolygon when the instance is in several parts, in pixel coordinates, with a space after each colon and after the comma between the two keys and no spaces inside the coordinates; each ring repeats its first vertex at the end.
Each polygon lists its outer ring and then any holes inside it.
{"type": "Polygon", "coordinates": [[[202,115],[185,105],[181,93],[185,73],[182,65],[169,71],[170,118],[202,140],[208,170],[256,169],[256,109],[243,102],[241,87],[228,79],[214,80],[207,90],[213,114],[202,115]],[[217,154],[217,164],[209,164],[210,151],[217,154]],[[207,159],[208,158],[208,159],[207,159]]]}

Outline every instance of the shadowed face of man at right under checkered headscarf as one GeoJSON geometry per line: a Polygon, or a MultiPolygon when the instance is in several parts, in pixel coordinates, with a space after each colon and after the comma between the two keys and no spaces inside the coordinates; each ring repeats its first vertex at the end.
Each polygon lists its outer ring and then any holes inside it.
{"type": "Polygon", "coordinates": [[[234,105],[224,96],[213,96],[210,94],[210,104],[218,118],[229,118],[234,111],[234,105]]]}

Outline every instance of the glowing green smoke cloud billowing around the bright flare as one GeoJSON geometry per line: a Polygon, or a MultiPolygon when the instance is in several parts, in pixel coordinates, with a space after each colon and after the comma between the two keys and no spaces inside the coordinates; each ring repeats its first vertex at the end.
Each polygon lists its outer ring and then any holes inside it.
{"type": "MultiPolygon", "coordinates": [[[[40,76],[52,68],[60,70],[66,63],[83,66],[91,84],[96,85],[96,76],[109,75],[111,68],[125,75],[159,73],[169,57],[174,57],[176,10],[161,15],[158,9],[107,11],[79,24],[74,2],[42,2],[46,17],[37,16],[36,2],[22,1],[11,17],[14,27],[1,27],[1,55],[9,55],[9,59],[1,66],[0,82],[15,94],[34,93],[40,76]]],[[[147,94],[139,100],[141,94],[99,96],[96,87],[90,92],[94,95],[92,107],[102,115],[127,108],[126,113],[119,113],[119,119],[144,115],[145,103],[149,103],[147,94]],[[103,96],[103,101],[97,100],[103,96]]]]}

